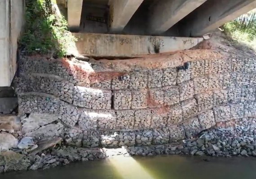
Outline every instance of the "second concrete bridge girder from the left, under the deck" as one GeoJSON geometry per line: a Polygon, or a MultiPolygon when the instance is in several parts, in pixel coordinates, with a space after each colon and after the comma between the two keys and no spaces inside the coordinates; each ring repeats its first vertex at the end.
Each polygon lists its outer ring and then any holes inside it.
{"type": "Polygon", "coordinates": [[[110,0],[110,32],[122,31],[142,2],[143,0],[110,0]]]}

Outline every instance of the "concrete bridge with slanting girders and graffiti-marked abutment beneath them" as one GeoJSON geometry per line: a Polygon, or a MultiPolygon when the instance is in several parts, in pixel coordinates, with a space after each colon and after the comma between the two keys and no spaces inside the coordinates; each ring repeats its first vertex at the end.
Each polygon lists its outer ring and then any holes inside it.
{"type": "Polygon", "coordinates": [[[256,0],[58,0],[76,52],[137,57],[186,50],[202,36],[256,8],[256,0]]]}

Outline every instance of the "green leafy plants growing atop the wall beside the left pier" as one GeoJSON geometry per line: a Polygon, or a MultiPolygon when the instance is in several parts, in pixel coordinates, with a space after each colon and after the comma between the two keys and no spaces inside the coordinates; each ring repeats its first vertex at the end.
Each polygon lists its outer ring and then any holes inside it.
{"type": "Polygon", "coordinates": [[[62,57],[75,38],[68,33],[67,21],[53,8],[55,0],[26,0],[25,33],[20,47],[29,55],[53,54],[62,57]]]}

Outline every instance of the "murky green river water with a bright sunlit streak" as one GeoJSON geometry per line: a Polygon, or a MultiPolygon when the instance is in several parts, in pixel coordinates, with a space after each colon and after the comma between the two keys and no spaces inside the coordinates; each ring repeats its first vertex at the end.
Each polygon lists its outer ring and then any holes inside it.
{"type": "Polygon", "coordinates": [[[49,170],[0,174],[0,179],[256,179],[256,158],[115,157],[49,170]]]}

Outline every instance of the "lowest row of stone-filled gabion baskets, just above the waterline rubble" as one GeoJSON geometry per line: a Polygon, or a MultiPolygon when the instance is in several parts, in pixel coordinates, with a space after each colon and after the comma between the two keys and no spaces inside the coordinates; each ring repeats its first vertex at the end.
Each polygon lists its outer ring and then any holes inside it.
{"type": "MultiPolygon", "coordinates": [[[[180,129],[177,129],[180,130],[180,129]]],[[[66,128],[65,142],[77,147],[122,147],[168,144],[170,131],[168,128],[133,131],[83,131],[79,128],[66,128]]],[[[175,131],[173,141],[185,138],[185,133],[175,131]]]]}

